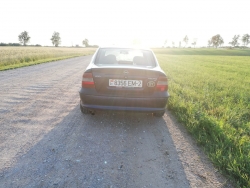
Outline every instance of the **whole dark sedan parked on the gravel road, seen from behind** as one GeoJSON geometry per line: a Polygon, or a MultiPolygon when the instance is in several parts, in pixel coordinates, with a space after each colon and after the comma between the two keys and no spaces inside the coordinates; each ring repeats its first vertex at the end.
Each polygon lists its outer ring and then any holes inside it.
{"type": "Polygon", "coordinates": [[[163,116],[168,79],[149,49],[99,48],[82,76],[81,112],[122,110],[163,116]]]}

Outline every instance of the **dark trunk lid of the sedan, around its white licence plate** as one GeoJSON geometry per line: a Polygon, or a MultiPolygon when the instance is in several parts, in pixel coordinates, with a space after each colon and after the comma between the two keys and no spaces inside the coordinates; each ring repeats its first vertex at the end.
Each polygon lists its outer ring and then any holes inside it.
{"type": "Polygon", "coordinates": [[[155,91],[157,78],[164,75],[157,70],[127,67],[92,68],[92,74],[98,93],[123,97],[148,97],[152,95],[155,91]],[[123,82],[127,86],[114,86],[110,84],[110,80],[123,82]],[[136,82],[137,85],[133,86],[136,82]]]}

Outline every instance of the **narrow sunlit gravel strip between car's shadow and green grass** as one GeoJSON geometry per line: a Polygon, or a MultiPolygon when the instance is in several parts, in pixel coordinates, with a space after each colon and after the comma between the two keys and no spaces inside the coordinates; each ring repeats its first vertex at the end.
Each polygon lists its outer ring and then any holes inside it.
{"type": "Polygon", "coordinates": [[[172,136],[191,187],[233,187],[213,166],[202,151],[202,148],[197,146],[191,135],[176,120],[171,111],[167,110],[163,118],[172,136]]]}

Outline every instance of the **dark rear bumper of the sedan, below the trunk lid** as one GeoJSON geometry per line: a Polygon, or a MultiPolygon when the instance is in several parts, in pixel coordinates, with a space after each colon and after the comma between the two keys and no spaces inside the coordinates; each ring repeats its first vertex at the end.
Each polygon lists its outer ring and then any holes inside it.
{"type": "Polygon", "coordinates": [[[84,90],[79,91],[81,106],[89,109],[100,110],[121,110],[138,112],[159,112],[165,110],[169,94],[161,97],[111,97],[103,95],[85,94],[84,90]]]}

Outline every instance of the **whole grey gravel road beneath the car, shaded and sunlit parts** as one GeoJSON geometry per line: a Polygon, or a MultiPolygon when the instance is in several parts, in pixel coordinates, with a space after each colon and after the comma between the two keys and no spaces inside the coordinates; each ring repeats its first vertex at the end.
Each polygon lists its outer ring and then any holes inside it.
{"type": "Polygon", "coordinates": [[[0,187],[231,187],[169,111],[81,114],[90,58],[0,72],[0,187]]]}

